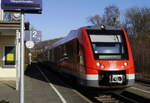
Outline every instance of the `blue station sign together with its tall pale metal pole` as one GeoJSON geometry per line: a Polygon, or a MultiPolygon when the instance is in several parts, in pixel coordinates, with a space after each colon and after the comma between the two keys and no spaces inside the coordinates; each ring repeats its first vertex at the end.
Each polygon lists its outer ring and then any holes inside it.
{"type": "MultiPolygon", "coordinates": [[[[24,103],[24,14],[41,14],[42,0],[1,0],[4,12],[21,13],[21,46],[20,46],[20,103],[24,103]]],[[[19,74],[19,73],[17,73],[19,74]]]]}

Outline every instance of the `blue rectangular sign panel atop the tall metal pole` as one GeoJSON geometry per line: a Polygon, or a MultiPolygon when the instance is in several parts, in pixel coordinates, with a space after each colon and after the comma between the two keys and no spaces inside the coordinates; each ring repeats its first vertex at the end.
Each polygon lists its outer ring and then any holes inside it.
{"type": "Polygon", "coordinates": [[[41,13],[42,0],[1,0],[1,8],[5,11],[41,13]]]}

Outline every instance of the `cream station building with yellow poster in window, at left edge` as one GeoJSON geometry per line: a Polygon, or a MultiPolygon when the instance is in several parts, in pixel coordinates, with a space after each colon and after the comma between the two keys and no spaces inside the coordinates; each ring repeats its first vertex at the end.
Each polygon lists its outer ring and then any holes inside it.
{"type": "Polygon", "coordinates": [[[19,22],[3,21],[0,10],[0,80],[16,80],[19,22]]]}

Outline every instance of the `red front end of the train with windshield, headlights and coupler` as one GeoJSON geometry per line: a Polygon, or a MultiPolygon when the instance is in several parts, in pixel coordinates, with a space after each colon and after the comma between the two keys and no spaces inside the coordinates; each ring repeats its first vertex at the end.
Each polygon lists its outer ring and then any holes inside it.
{"type": "Polygon", "coordinates": [[[124,29],[83,28],[86,85],[100,88],[134,84],[134,62],[124,29]]]}

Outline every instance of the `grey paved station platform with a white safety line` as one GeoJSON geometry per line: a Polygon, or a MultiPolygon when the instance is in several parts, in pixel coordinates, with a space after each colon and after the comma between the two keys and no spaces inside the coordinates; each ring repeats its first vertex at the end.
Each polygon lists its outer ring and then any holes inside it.
{"type": "MultiPolygon", "coordinates": [[[[90,103],[55,74],[42,69],[34,64],[25,71],[25,103],[90,103]],[[46,78],[45,72],[49,73],[46,78]]],[[[19,103],[19,91],[15,86],[14,81],[0,81],[0,101],[19,103]]]]}

